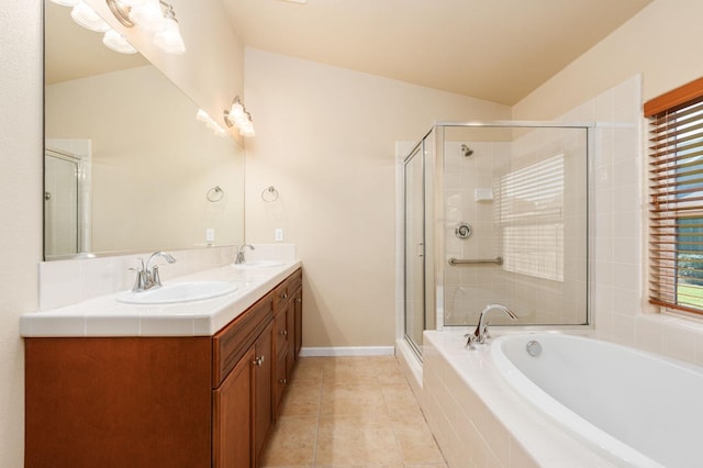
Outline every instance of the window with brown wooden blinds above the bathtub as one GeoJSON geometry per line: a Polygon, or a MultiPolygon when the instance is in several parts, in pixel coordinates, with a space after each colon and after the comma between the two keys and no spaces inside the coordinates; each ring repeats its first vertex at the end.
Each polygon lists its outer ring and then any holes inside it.
{"type": "Polygon", "coordinates": [[[703,78],[645,103],[649,302],[703,314],[703,78]]]}

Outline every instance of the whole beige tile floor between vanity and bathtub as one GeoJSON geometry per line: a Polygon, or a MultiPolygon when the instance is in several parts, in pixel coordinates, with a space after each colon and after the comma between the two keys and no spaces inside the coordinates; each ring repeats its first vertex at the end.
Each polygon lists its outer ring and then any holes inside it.
{"type": "Polygon", "coordinates": [[[261,467],[447,468],[392,356],[305,357],[261,467]]]}

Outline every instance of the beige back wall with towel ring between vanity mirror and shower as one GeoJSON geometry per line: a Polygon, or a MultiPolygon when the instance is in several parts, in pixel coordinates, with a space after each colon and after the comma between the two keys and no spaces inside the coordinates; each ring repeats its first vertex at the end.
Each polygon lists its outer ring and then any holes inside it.
{"type": "MultiPolygon", "coordinates": [[[[419,62],[421,66],[421,62],[419,62]]],[[[246,49],[246,237],[298,245],[303,346],[390,346],[395,305],[395,141],[435,120],[506,119],[510,108],[246,49]],[[276,203],[260,193],[280,192],[276,203]]]]}

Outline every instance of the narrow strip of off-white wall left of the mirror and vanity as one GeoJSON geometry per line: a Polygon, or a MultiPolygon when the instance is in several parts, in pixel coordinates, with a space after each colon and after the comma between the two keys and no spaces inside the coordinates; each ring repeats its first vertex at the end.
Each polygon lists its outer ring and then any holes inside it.
{"type": "Polygon", "coordinates": [[[0,466],[21,467],[24,361],[20,315],[37,302],[42,256],[42,31],[40,2],[0,13],[0,466]],[[11,13],[11,14],[10,14],[11,13]]]}

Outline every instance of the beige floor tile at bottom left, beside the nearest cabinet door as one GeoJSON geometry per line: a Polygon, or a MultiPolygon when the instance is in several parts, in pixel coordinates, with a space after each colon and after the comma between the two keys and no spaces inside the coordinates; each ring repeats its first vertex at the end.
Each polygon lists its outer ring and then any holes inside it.
{"type": "Polygon", "coordinates": [[[316,436],[317,417],[280,416],[264,448],[260,466],[312,466],[316,436]]]}

